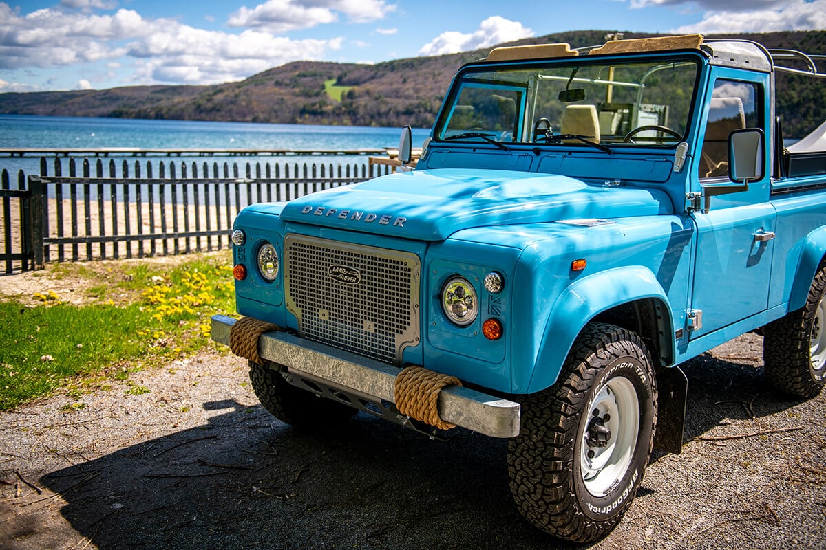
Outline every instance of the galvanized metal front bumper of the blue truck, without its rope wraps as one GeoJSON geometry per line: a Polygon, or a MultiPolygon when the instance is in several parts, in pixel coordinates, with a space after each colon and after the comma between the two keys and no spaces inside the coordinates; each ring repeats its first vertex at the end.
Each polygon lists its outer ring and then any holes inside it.
{"type": "MultiPolygon", "coordinates": [[[[229,346],[235,319],[212,316],[212,340],[229,346]]],[[[287,332],[267,332],[259,338],[259,355],[282,364],[292,374],[324,381],[350,393],[394,402],[400,369],[349,351],[337,350],[287,332]]],[[[439,393],[442,420],[491,437],[519,435],[520,404],[461,386],[439,393]]]]}

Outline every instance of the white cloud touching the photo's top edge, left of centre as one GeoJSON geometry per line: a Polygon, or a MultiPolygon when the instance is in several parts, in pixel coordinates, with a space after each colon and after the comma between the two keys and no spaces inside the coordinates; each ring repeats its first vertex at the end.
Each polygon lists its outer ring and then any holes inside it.
{"type": "Polygon", "coordinates": [[[267,0],[252,9],[241,7],[227,25],[284,33],[338,21],[339,13],[351,22],[366,23],[395,10],[385,0],[267,0]]]}

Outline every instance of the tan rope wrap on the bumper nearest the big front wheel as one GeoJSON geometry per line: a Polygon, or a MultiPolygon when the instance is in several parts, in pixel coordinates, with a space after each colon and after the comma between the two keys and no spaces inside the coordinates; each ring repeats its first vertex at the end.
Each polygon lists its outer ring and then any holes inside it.
{"type": "Polygon", "coordinates": [[[424,367],[407,367],[396,376],[393,392],[396,407],[401,414],[436,426],[439,430],[455,428],[455,424],[439,417],[439,392],[448,384],[462,385],[455,376],[434,373],[424,367]]]}

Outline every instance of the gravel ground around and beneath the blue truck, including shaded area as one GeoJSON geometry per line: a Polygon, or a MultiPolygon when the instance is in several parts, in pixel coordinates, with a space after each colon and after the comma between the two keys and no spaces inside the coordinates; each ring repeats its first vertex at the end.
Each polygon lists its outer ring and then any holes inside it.
{"type": "MultiPolygon", "coordinates": [[[[778,397],[761,349],[742,336],[683,365],[682,454],[653,457],[591,548],[826,548],[826,393],[778,397]]],[[[133,380],[150,393],[0,413],[0,548],[576,548],[515,511],[505,441],[364,413],[305,434],[215,352],[133,380]]]]}

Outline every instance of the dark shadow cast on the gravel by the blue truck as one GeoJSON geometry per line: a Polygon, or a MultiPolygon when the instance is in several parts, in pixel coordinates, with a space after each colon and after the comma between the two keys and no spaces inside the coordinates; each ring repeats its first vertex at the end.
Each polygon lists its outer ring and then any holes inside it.
{"type": "MultiPolygon", "coordinates": [[[[684,366],[686,440],[796,403],[752,365],[702,355],[684,366]]],[[[576,548],[516,512],[505,440],[453,430],[434,442],[365,413],[307,434],[262,407],[204,407],[225,412],[40,482],[98,548],[576,548]]],[[[639,498],[662,498],[656,489],[643,482],[639,498]]]]}

